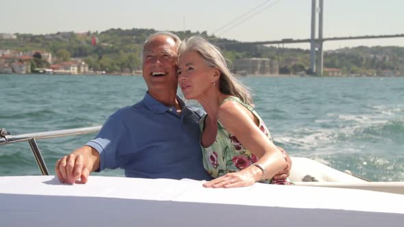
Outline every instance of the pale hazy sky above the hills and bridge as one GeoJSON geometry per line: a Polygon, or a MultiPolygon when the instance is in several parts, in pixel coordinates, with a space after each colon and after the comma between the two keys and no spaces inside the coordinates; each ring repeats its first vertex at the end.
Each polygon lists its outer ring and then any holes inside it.
{"type": "MultiPolygon", "coordinates": [[[[311,6],[312,0],[0,0],[0,33],[144,28],[207,31],[242,42],[305,39],[311,6]]],[[[323,37],[404,34],[403,8],[403,0],[324,0],[323,37]]],[[[324,49],[361,45],[404,46],[404,38],[329,41],[324,49]]]]}

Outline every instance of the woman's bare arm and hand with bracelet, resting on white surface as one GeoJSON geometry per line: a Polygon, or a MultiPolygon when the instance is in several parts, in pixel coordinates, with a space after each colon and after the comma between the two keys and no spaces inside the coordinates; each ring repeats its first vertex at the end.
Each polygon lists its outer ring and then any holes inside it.
{"type": "Polygon", "coordinates": [[[231,135],[235,135],[247,150],[259,158],[257,164],[264,168],[264,172],[256,165],[250,165],[240,172],[209,181],[204,184],[205,187],[248,186],[261,179],[273,178],[287,168],[283,153],[260,131],[251,111],[240,103],[227,101],[220,105],[218,118],[231,135]]]}

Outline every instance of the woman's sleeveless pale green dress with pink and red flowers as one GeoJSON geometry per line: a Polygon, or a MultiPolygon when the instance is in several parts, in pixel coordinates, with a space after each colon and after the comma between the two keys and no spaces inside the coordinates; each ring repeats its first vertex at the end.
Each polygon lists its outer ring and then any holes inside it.
{"type": "MultiPolygon", "coordinates": [[[[226,98],[225,101],[236,101],[249,109],[251,113],[260,121],[259,128],[261,131],[268,137],[268,139],[272,140],[268,128],[266,127],[264,121],[258,116],[257,112],[254,109],[242,101],[235,97],[231,96],[226,98]]],[[[223,104],[222,103],[222,104],[223,104]]],[[[201,131],[203,131],[203,126],[205,122],[206,116],[203,116],[201,121],[199,122],[199,126],[201,127],[201,131]]],[[[252,163],[258,161],[257,156],[251,153],[247,148],[245,148],[237,139],[236,136],[231,135],[226,131],[220,122],[218,122],[218,131],[216,134],[216,139],[214,143],[207,148],[202,146],[203,152],[203,167],[207,171],[210,176],[214,178],[218,178],[219,176],[223,176],[227,173],[238,172],[240,170],[244,170],[249,167],[252,163]]],[[[262,183],[272,183],[279,185],[289,185],[291,184],[288,179],[286,180],[273,180],[271,179],[262,181],[262,183]]]]}

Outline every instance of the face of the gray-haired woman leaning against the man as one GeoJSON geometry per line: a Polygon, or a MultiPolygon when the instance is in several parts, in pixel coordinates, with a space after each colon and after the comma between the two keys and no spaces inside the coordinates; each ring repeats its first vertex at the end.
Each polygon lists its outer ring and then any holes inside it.
{"type": "Polygon", "coordinates": [[[195,51],[187,51],[179,57],[178,83],[186,99],[198,99],[213,87],[214,68],[205,64],[203,58],[195,51]]]}

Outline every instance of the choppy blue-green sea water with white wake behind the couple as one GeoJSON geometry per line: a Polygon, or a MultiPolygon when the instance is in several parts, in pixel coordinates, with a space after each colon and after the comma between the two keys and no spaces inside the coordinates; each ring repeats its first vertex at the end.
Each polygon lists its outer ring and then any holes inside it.
{"type": "MultiPolygon", "coordinates": [[[[238,79],[290,155],[373,181],[404,181],[404,77],[238,79]]],[[[0,75],[0,85],[0,128],[14,135],[101,125],[147,89],[142,77],[108,75],[0,75]]],[[[51,174],[57,159],[94,135],[38,140],[51,174]]],[[[0,146],[0,176],[32,174],[40,171],[27,142],[0,146]]]]}

